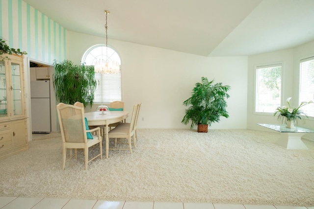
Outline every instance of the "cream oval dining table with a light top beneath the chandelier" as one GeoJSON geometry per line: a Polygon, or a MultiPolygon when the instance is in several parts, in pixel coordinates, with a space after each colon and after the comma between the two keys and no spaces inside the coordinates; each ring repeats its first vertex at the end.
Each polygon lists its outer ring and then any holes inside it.
{"type": "Polygon", "coordinates": [[[129,116],[128,111],[96,111],[85,113],[87,123],[90,126],[105,125],[105,153],[108,159],[109,153],[109,124],[125,120],[129,116]]]}

